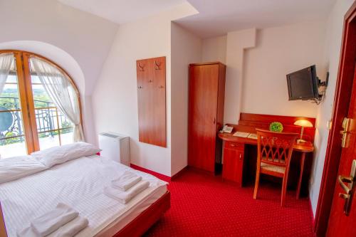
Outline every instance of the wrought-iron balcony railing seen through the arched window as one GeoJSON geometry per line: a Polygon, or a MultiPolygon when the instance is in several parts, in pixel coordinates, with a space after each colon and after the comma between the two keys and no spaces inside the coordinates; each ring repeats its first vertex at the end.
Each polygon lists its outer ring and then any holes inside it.
{"type": "MultiPolygon", "coordinates": [[[[0,101],[0,146],[23,142],[25,138],[19,98],[0,97],[0,101]]],[[[73,124],[57,110],[53,102],[34,100],[34,105],[38,137],[54,137],[73,131],[73,124]]]]}

